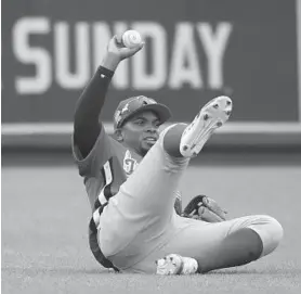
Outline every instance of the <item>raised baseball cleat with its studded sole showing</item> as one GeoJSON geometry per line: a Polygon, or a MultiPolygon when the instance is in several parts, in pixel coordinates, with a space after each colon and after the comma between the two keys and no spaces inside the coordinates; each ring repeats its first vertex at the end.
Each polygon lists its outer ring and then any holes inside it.
{"type": "Polygon", "coordinates": [[[180,143],[180,152],[184,157],[196,156],[213,131],[230,117],[232,100],[220,95],[209,101],[185,128],[180,143]]]}

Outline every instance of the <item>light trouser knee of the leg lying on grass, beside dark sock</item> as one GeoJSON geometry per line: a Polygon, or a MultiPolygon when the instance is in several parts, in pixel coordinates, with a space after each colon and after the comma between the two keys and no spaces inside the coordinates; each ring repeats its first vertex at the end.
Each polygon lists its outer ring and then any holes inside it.
{"type": "Polygon", "coordinates": [[[282,225],[271,216],[261,216],[250,228],[261,238],[263,244],[261,256],[272,253],[279,245],[284,235],[282,225]]]}

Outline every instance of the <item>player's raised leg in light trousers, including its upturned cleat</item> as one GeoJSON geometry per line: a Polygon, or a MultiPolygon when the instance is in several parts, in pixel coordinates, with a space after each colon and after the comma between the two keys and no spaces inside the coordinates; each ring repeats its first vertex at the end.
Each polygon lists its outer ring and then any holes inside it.
{"type": "MultiPolygon", "coordinates": [[[[106,256],[113,258],[121,248],[122,256],[145,255],[171,238],[174,230],[168,225],[174,215],[173,203],[181,176],[191,156],[226,122],[231,107],[228,98],[214,99],[188,126],[176,124],[161,133],[102,214],[100,243],[106,256]]],[[[121,264],[132,261],[126,258],[121,264]]]]}

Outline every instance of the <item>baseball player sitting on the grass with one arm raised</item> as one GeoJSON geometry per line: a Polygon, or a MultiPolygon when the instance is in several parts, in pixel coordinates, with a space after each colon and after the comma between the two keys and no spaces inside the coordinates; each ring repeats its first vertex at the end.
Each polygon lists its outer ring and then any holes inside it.
{"type": "Polygon", "coordinates": [[[174,124],[160,133],[169,108],[144,95],[129,98],[115,112],[115,139],[106,133],[99,117],[110,79],[118,64],[143,46],[122,48],[115,36],[76,105],[73,151],[92,208],[89,239],[96,260],[121,272],[184,274],[245,265],[272,253],[283,228],[270,216],[218,222],[187,217],[209,207],[224,219],[204,196],[183,215],[174,209],[179,181],[189,159],[227,120],[230,98],[211,100],[189,125],[174,124]]]}

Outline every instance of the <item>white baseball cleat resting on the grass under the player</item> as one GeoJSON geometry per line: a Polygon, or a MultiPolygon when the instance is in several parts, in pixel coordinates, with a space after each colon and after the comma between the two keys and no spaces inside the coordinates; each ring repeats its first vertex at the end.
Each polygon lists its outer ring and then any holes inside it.
{"type": "Polygon", "coordinates": [[[198,269],[197,260],[191,257],[183,257],[179,254],[169,254],[156,260],[157,274],[192,274],[198,269]]]}

